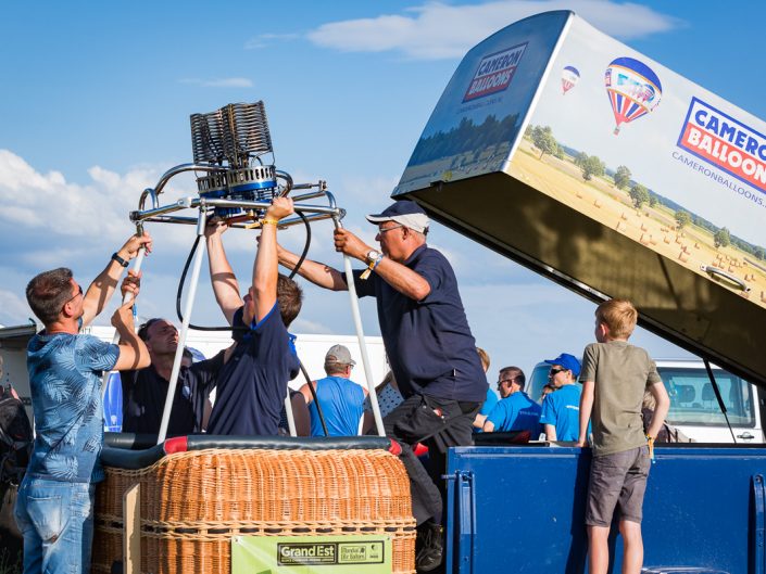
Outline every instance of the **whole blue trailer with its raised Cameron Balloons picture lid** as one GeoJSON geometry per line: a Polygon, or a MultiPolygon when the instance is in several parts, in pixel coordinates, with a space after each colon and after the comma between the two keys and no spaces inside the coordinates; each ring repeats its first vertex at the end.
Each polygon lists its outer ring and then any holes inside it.
{"type": "MultiPolygon", "coordinates": [[[[631,299],[644,328],[764,387],[763,133],[574,13],[548,12],[466,54],[393,196],[593,302],[631,299]],[[737,246],[716,240],[725,228],[737,246]]],[[[452,449],[447,572],[583,572],[589,464],[565,444],[452,449]]],[[[644,572],[766,572],[764,475],[758,445],[657,448],[644,572]]],[[[616,528],[613,543],[617,572],[616,528]]]]}

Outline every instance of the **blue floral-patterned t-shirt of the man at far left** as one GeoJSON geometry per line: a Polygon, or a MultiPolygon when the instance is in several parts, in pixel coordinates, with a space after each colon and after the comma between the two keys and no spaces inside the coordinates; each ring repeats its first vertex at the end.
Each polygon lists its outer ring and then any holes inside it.
{"type": "Polygon", "coordinates": [[[120,348],[92,335],[38,333],[27,345],[35,446],[27,474],[73,483],[99,482],[103,445],[101,378],[120,348]]]}

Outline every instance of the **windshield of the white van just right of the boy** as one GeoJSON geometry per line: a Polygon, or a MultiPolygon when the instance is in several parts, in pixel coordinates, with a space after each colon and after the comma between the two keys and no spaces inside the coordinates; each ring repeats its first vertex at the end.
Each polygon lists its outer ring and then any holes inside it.
{"type": "MultiPolygon", "coordinates": [[[[673,424],[725,426],[713,384],[702,368],[657,367],[670,397],[667,419],[673,424]]],[[[714,370],[729,422],[737,426],[755,426],[752,385],[731,373],[714,370]]]]}

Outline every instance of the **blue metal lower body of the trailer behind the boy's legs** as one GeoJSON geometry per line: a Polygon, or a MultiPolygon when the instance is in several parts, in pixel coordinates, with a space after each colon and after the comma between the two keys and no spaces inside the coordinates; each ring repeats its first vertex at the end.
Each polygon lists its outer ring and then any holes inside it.
{"type": "MultiPolygon", "coordinates": [[[[766,572],[766,450],[692,444],[655,452],[644,571],[766,572]]],[[[589,464],[590,450],[574,447],[452,449],[447,572],[585,572],[589,464]]],[[[613,572],[621,562],[616,532],[613,572]]]]}

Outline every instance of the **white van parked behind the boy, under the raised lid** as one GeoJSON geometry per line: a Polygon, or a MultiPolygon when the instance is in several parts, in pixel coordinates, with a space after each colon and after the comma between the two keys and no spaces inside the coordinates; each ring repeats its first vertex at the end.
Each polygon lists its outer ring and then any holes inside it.
{"type": "MultiPolygon", "coordinates": [[[[658,359],[655,362],[670,397],[669,424],[698,443],[766,443],[762,423],[763,399],[754,384],[711,365],[731,424],[729,431],[703,361],[658,359]]],[[[528,378],[526,391],[532,400],[540,400],[550,368],[545,362],[538,362],[528,378]]]]}

